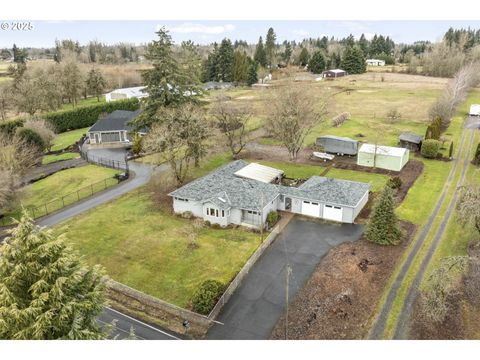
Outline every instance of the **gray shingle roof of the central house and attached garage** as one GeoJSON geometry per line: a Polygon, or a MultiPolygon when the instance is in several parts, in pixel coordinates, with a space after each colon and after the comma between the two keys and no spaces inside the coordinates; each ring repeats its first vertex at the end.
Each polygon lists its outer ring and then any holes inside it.
{"type": "Polygon", "coordinates": [[[220,209],[237,208],[258,211],[280,194],[355,207],[370,189],[367,183],[320,176],[313,176],[302,186],[294,188],[262,183],[234,175],[246,165],[248,163],[243,160],[231,162],[169,195],[202,203],[212,202],[220,209]]]}

